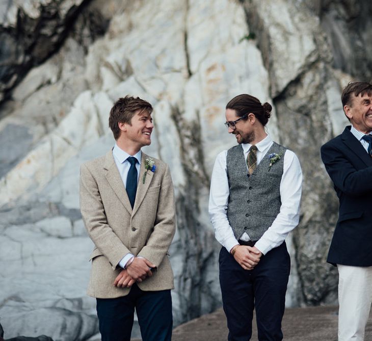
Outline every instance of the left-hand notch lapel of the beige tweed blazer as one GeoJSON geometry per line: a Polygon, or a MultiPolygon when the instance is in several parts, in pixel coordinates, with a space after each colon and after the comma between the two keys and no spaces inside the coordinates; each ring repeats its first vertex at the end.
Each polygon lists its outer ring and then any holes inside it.
{"type": "Polygon", "coordinates": [[[107,170],[106,179],[109,182],[111,188],[114,190],[116,196],[119,198],[129,214],[132,214],[132,208],[129,202],[128,194],[126,193],[123,181],[121,180],[112,151],[106,154],[103,168],[107,170]]]}

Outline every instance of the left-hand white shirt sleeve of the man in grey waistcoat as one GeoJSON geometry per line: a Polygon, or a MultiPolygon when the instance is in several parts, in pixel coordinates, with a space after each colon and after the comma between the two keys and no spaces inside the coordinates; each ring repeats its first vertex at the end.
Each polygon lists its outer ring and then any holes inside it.
{"type": "Polygon", "coordinates": [[[217,155],[210,180],[209,216],[215,229],[216,239],[228,252],[238,242],[227,219],[227,204],[229,200],[229,182],[226,167],[227,151],[217,155]]]}

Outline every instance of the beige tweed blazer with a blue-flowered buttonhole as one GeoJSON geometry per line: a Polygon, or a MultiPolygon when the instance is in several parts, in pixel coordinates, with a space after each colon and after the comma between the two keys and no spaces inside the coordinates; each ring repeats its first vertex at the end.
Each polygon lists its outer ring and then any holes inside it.
{"type": "Polygon", "coordinates": [[[133,209],[112,151],[88,161],[80,169],[80,208],[95,248],[88,295],[96,298],[125,296],[130,288],[114,286],[122,270],[119,261],[127,253],[142,256],[157,266],[152,277],[138,286],[142,290],[172,289],[173,273],[168,249],[175,232],[174,190],[169,167],[155,159],[154,173],[147,171],[142,152],[133,209]]]}

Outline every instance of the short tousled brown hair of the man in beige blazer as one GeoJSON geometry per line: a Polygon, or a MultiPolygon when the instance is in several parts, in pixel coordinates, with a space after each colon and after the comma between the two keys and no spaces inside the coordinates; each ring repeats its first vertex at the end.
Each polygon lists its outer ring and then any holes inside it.
{"type": "Polygon", "coordinates": [[[119,122],[128,123],[130,125],[132,117],[138,110],[140,110],[140,113],[146,112],[147,114],[151,114],[153,108],[147,101],[141,100],[139,97],[134,98],[128,95],[124,98],[119,98],[114,103],[110,111],[109,127],[114,134],[115,140],[120,137],[119,122]]]}

